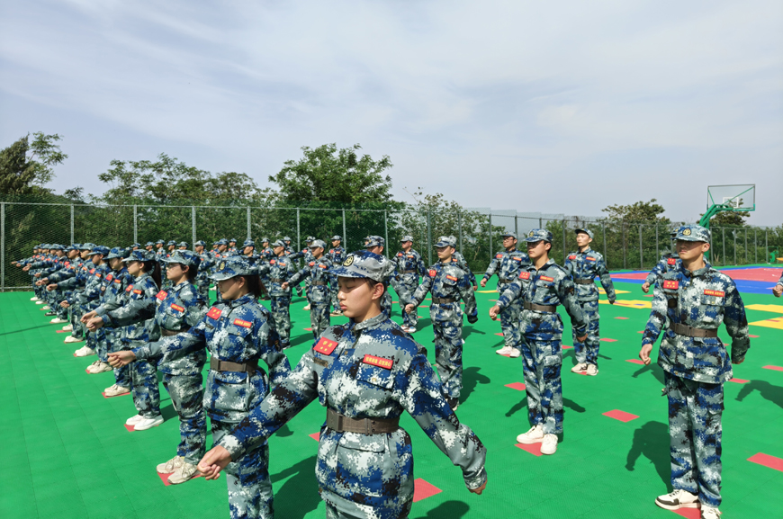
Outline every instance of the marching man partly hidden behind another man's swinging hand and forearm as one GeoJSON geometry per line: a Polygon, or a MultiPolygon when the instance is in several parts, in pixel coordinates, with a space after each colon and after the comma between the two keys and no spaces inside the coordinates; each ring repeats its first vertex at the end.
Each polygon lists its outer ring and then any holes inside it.
{"type": "MultiPolygon", "coordinates": [[[[530,258],[522,251],[517,250],[517,235],[507,232],[503,235],[503,250],[495,254],[495,257],[487,267],[482,279],[482,288],[487,286],[494,273],[498,273],[498,293],[502,293],[506,285],[517,279],[522,265],[530,264],[530,258]]],[[[519,312],[522,311],[522,301],[513,300],[509,306],[500,312],[500,328],[503,330],[504,345],[496,351],[499,355],[509,355],[517,358],[522,354],[522,330],[519,327],[519,312]]]]}

